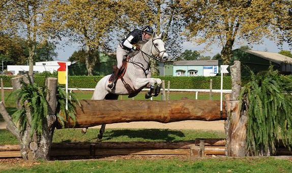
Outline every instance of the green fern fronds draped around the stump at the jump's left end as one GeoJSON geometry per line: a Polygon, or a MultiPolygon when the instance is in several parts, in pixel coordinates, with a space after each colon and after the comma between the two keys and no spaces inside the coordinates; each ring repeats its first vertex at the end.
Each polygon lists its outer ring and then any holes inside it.
{"type": "MultiPolygon", "coordinates": [[[[29,79],[29,78],[28,78],[29,79]]],[[[21,81],[21,89],[13,92],[20,100],[21,108],[12,114],[13,121],[17,122],[21,132],[24,132],[27,127],[28,119],[24,108],[25,101],[27,102],[28,108],[31,111],[32,123],[31,123],[31,135],[35,132],[38,135],[42,134],[43,124],[47,122],[48,116],[48,102],[47,86],[39,87],[36,83],[31,80],[29,83],[21,81]]],[[[68,94],[68,110],[65,108],[66,92],[61,86],[57,86],[56,99],[56,116],[61,120],[61,124],[64,127],[64,122],[72,119],[74,124],[76,122],[75,107],[80,106],[77,96],[73,93],[68,94]],[[59,115],[61,112],[64,117],[59,115]]]]}

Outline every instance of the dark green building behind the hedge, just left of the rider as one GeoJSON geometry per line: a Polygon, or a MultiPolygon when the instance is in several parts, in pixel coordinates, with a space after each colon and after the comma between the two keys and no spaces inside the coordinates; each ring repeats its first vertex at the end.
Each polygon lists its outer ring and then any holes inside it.
{"type": "MultiPolygon", "coordinates": [[[[108,55],[100,52],[99,63],[94,66],[93,75],[105,76],[113,72],[112,66],[116,64],[115,55],[108,55]]],[[[85,63],[72,63],[69,67],[69,75],[87,76],[88,72],[85,63]]]]}

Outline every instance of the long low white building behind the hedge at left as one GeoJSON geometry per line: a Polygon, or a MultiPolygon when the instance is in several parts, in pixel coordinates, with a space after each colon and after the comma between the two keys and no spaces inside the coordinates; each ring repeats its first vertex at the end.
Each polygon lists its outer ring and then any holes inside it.
{"type": "MultiPolygon", "coordinates": [[[[53,73],[59,69],[59,64],[57,62],[62,61],[45,61],[45,62],[36,62],[34,65],[34,73],[50,72],[53,73]]],[[[71,65],[71,62],[68,62],[68,66],[71,65]]],[[[13,75],[18,74],[27,74],[30,66],[17,66],[17,65],[8,65],[7,71],[12,72],[13,75]]]]}

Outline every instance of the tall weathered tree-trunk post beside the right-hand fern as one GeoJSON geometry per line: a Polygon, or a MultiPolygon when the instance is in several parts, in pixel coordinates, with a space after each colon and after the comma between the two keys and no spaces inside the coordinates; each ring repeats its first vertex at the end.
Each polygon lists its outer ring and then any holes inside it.
{"type": "Polygon", "coordinates": [[[230,67],[232,79],[232,95],[226,96],[229,99],[226,101],[227,106],[227,122],[225,124],[226,134],[226,152],[227,156],[244,157],[246,145],[246,123],[247,116],[245,110],[240,110],[240,101],[238,100],[241,89],[241,70],[240,62],[235,61],[230,67]]]}

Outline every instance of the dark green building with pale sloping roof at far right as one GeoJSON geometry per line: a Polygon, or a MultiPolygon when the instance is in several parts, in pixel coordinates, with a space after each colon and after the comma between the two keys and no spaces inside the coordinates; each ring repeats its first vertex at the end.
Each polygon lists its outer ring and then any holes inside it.
{"type": "Polygon", "coordinates": [[[249,75],[246,67],[254,73],[268,70],[269,66],[274,66],[283,74],[292,73],[292,58],[275,52],[265,52],[256,50],[235,49],[232,51],[233,60],[239,60],[242,64],[242,75],[249,75]]]}

